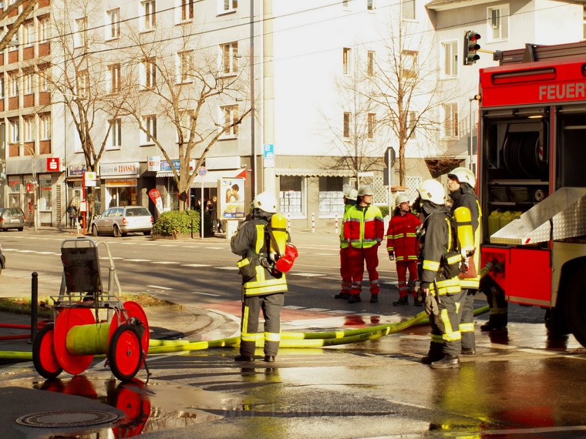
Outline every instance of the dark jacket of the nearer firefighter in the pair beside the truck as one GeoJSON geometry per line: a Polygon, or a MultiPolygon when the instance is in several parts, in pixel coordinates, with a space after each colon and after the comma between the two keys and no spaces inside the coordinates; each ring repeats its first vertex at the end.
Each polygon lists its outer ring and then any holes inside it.
{"type": "Polygon", "coordinates": [[[420,232],[421,288],[435,291],[437,286],[438,294],[458,294],[461,292],[458,274],[449,278],[441,275],[446,265],[459,265],[462,261],[459,252],[447,257],[453,251],[454,243],[447,207],[430,205],[429,202],[424,201],[424,210],[427,217],[423,221],[420,232]]]}

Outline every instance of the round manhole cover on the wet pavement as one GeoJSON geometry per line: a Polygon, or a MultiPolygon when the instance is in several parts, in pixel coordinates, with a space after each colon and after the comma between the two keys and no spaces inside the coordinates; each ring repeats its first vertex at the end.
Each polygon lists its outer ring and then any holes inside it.
{"type": "Polygon", "coordinates": [[[41,411],[21,416],[17,423],[29,427],[79,427],[97,425],[117,420],[118,415],[110,411],[99,410],[68,410],[68,411],[41,411]]]}

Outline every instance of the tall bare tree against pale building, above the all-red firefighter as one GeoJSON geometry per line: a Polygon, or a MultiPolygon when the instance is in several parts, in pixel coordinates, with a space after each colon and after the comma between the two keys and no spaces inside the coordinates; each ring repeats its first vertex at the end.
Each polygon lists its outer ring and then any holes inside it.
{"type": "Polygon", "coordinates": [[[438,81],[436,52],[430,35],[416,24],[391,19],[385,53],[374,60],[370,99],[384,109],[386,125],[398,145],[399,184],[405,185],[405,150],[418,136],[418,147],[437,142],[439,108],[454,96],[438,81]],[[423,139],[422,139],[423,138],[423,139]]]}

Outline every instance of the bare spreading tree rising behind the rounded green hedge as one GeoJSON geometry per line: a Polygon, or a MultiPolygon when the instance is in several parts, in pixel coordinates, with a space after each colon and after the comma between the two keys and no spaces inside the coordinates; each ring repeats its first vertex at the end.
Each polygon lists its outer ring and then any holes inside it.
{"type": "MultiPolygon", "coordinates": [[[[179,156],[179,170],[172,167],[174,181],[185,208],[188,191],[197,169],[206,154],[226,134],[238,134],[238,127],[252,111],[246,99],[241,77],[243,57],[237,43],[222,47],[221,63],[216,47],[195,44],[188,28],[177,38],[176,50],[171,51],[159,32],[134,33],[131,54],[134,65],[132,99],[127,99],[123,111],[136,121],[148,141],[154,143],[171,163],[179,156]],[[202,48],[202,46],[204,46],[202,48]],[[170,136],[157,136],[152,131],[150,114],[166,127],[170,136]],[[192,160],[196,165],[190,167],[192,160]]],[[[248,101],[250,102],[250,101],[248,101]]],[[[158,129],[159,133],[162,130],[158,129]]]]}

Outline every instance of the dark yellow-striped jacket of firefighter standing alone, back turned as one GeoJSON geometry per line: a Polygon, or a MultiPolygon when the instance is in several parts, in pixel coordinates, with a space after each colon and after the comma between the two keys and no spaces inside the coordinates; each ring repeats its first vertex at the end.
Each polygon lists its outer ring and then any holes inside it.
{"type": "MultiPolygon", "coordinates": [[[[285,273],[261,263],[269,255],[269,243],[265,239],[265,227],[269,221],[270,216],[245,221],[230,241],[232,253],[243,256],[236,265],[243,276],[245,296],[287,291],[285,273]]],[[[288,236],[287,241],[290,241],[288,236]]]]}

